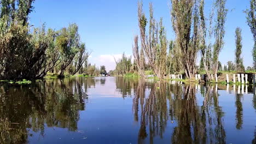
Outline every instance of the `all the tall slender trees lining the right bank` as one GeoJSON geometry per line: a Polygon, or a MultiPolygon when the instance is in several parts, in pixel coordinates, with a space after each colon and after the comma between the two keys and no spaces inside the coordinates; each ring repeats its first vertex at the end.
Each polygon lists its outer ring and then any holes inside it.
{"type": "MultiPolygon", "coordinates": [[[[148,65],[158,77],[171,73],[185,73],[186,77],[191,79],[200,70],[196,66],[197,54],[200,53],[200,68],[206,71],[209,79],[212,79],[210,74],[217,74],[218,70],[222,70],[222,64],[218,58],[224,46],[225,22],[228,14],[226,0],[214,0],[208,16],[205,14],[205,0],[171,0],[171,4],[172,27],[176,38],[167,40],[162,18],[159,22],[154,18],[152,3],[149,4],[148,20],[143,12],[142,2],[138,2],[140,33],[135,35],[132,46],[135,69],[139,75],[144,76],[145,66],[148,65]],[[139,40],[141,46],[139,46],[139,40]]],[[[246,10],[246,13],[254,41],[256,39],[255,10],[256,2],[251,0],[251,7],[246,10]]],[[[236,28],[235,62],[232,66],[229,62],[227,69],[245,70],[241,56],[241,32],[241,28],[236,28]]],[[[253,49],[254,63],[256,63],[255,53],[256,46],[253,49]]]]}

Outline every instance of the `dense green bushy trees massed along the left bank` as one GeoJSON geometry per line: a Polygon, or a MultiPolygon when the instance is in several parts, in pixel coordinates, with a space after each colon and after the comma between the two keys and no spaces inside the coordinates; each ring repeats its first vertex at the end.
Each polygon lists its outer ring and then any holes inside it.
{"type": "Polygon", "coordinates": [[[58,31],[28,22],[34,0],[0,1],[0,79],[39,79],[48,72],[82,73],[89,52],[78,26],[58,31]],[[32,30],[33,29],[33,30],[32,30]],[[79,71],[80,70],[80,71],[79,71]]]}

